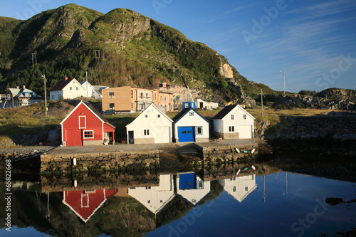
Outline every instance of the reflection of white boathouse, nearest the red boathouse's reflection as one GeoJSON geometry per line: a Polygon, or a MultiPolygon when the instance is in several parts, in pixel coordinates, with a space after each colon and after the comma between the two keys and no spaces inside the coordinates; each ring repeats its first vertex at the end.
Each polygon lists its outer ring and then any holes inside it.
{"type": "Polygon", "coordinates": [[[159,186],[130,188],[128,194],[157,214],[174,198],[173,175],[162,174],[159,176],[159,186]]]}

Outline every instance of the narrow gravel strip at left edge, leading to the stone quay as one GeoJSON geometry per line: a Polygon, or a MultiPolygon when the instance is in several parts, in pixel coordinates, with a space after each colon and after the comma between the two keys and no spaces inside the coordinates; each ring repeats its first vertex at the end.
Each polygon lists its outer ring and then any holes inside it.
{"type": "Polygon", "coordinates": [[[0,150],[1,157],[28,157],[35,154],[42,154],[44,152],[49,151],[50,149],[54,149],[56,147],[51,146],[36,146],[36,147],[11,147],[4,148],[0,150]]]}

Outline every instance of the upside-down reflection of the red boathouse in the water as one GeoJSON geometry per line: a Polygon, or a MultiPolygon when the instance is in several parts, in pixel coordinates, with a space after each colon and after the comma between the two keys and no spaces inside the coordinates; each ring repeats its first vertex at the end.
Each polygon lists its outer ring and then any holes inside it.
{"type": "Polygon", "coordinates": [[[86,223],[115,193],[116,189],[63,191],[62,202],[86,223]]]}

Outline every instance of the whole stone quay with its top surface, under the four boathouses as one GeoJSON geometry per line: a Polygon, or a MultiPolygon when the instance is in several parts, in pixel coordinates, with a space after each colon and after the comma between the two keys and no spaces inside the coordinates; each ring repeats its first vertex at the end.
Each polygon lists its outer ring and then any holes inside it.
{"type": "Polygon", "coordinates": [[[196,143],[113,144],[83,147],[57,147],[41,155],[41,172],[68,169],[157,169],[159,153],[191,154],[204,162],[234,161],[257,154],[255,139],[225,139],[196,143]],[[253,150],[254,149],[254,150],[253,150]],[[237,152],[239,151],[239,152],[237,152]],[[253,151],[253,152],[252,152],[253,151]]]}

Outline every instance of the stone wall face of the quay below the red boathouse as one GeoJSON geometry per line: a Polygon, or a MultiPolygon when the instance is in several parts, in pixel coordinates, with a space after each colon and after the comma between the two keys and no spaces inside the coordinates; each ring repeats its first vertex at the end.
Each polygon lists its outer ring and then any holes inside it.
{"type": "Polygon", "coordinates": [[[159,167],[159,152],[95,152],[83,154],[42,154],[41,172],[64,172],[78,169],[90,172],[95,169],[118,170],[135,167],[153,169],[159,167]],[[74,165],[74,158],[76,165],[74,165]]]}

